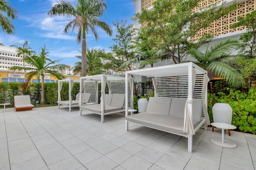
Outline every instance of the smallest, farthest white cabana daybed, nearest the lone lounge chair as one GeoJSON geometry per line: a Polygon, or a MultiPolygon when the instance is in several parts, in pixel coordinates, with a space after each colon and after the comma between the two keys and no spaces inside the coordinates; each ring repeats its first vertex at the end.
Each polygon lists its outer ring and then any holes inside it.
{"type": "MultiPolygon", "coordinates": [[[[75,100],[72,100],[72,96],[71,96],[71,91],[72,91],[72,88],[73,88],[73,85],[74,85],[74,82],[77,81],[79,82],[78,80],[76,79],[63,79],[63,80],[58,80],[58,108],[60,108],[60,105],[65,105],[65,106],[69,106],[69,111],[71,111],[71,107],[74,107],[74,106],[79,106],[79,98],[80,98],[80,95],[77,94],[76,95],[76,99],[75,100]],[[62,90],[62,83],[63,82],[68,82],[68,98],[69,100],[65,100],[65,101],[61,101],[61,96],[60,96],[60,92],[62,90]]],[[[84,99],[83,102],[90,102],[90,98],[91,98],[91,94],[90,93],[82,93],[82,98],[84,99]]]]}

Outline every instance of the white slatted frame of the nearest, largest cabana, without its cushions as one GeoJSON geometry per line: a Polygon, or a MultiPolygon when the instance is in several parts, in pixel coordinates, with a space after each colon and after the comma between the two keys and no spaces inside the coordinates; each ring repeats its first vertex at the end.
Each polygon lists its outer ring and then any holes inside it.
{"type": "MultiPolygon", "coordinates": [[[[148,126],[143,124],[143,120],[140,122],[141,125],[157,129],[160,131],[165,131],[175,135],[180,135],[188,138],[188,151],[192,152],[192,136],[194,133],[202,126],[207,129],[207,125],[210,124],[210,120],[207,112],[207,83],[208,76],[207,71],[200,68],[196,64],[190,63],[181,63],[181,64],[172,64],[167,66],[158,66],[152,68],[144,68],[139,70],[126,71],[126,92],[128,88],[128,76],[138,75],[152,77],[152,82],[154,84],[155,97],[168,97],[168,98],[183,98],[187,99],[185,105],[184,114],[184,130],[182,133],[176,133],[173,131],[168,131],[153,126],[148,126]],[[202,114],[200,123],[194,128],[193,127],[193,100],[202,100],[202,114]],[[191,127],[192,126],[192,127],[191,127]]],[[[126,106],[128,102],[128,95],[126,95],[126,106]]],[[[125,108],[126,117],[138,118],[138,115],[128,116],[128,107],[125,108]]],[[[160,113],[161,114],[161,113],[160,113]]],[[[170,113],[169,113],[170,114],[170,113]]],[[[147,115],[145,114],[145,117],[147,115]]],[[[160,115],[161,116],[161,115],[160,115]]],[[[183,116],[183,115],[182,115],[183,116]]],[[[132,121],[129,119],[129,121],[132,121]]],[[[134,121],[136,123],[136,121],[134,121]]],[[[139,123],[140,124],[140,123],[139,123]]],[[[146,124],[146,123],[145,123],[146,124]]],[[[153,123],[154,124],[154,123],[153,123]]],[[[172,125],[167,125],[172,126],[172,125]]],[[[125,128],[128,131],[128,120],[125,120],[125,128]]]]}

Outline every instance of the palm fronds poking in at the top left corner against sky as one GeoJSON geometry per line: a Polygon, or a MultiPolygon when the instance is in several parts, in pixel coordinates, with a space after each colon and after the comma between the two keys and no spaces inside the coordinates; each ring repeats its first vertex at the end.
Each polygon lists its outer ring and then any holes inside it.
{"type": "Polygon", "coordinates": [[[14,35],[15,27],[9,18],[16,20],[18,18],[18,10],[6,0],[0,0],[0,25],[5,33],[14,35]],[[6,13],[8,18],[2,12],[6,13]]]}

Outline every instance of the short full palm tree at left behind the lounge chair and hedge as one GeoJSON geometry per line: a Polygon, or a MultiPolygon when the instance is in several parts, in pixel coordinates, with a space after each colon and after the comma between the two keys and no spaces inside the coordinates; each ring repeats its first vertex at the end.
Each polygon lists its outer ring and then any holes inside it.
{"type": "Polygon", "coordinates": [[[44,45],[44,47],[41,47],[40,56],[27,54],[24,57],[26,63],[30,64],[32,67],[23,68],[20,66],[12,66],[10,68],[10,70],[13,71],[22,71],[23,69],[29,71],[26,73],[26,77],[28,79],[27,82],[29,82],[33,76],[36,76],[36,79],[39,81],[41,76],[41,104],[44,104],[44,74],[49,73],[51,76],[62,79],[64,76],[59,71],[68,68],[68,66],[65,64],[59,64],[60,60],[51,61],[49,58],[47,58],[48,54],[49,52],[47,52],[44,45]]]}

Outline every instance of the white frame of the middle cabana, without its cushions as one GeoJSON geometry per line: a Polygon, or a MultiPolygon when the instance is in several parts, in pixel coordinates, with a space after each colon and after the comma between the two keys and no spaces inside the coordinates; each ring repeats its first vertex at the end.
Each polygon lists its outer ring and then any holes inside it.
{"type": "MultiPolygon", "coordinates": [[[[133,78],[128,78],[130,80],[130,82],[133,82],[133,78]]],[[[93,111],[93,109],[88,109],[89,107],[93,107],[92,105],[88,106],[85,104],[85,106],[83,106],[82,102],[81,102],[81,96],[80,96],[80,115],[82,115],[82,110],[85,111],[89,111],[92,113],[96,113],[98,115],[101,115],[101,122],[104,122],[104,115],[108,115],[108,114],[112,114],[112,113],[118,113],[121,111],[125,111],[124,106],[122,109],[120,110],[115,110],[115,111],[108,111],[106,112],[106,110],[104,108],[106,108],[106,103],[105,103],[105,88],[106,88],[106,84],[108,84],[108,91],[109,94],[124,94],[127,91],[127,94],[130,96],[130,98],[133,99],[133,87],[129,89],[125,89],[125,77],[124,76],[114,76],[114,75],[106,75],[106,74],[99,74],[99,75],[94,75],[94,76],[85,76],[85,77],[80,77],[80,92],[84,89],[85,87],[85,83],[86,82],[96,82],[95,84],[97,84],[98,86],[98,82],[101,82],[101,96],[102,96],[102,100],[100,103],[100,113],[93,111]]],[[[98,88],[96,88],[96,94],[98,94],[98,88]]],[[[130,103],[132,102],[132,100],[130,100],[130,103]]],[[[97,104],[98,102],[96,102],[97,104]]],[[[131,104],[126,104],[129,108],[133,105],[131,104]]]]}

